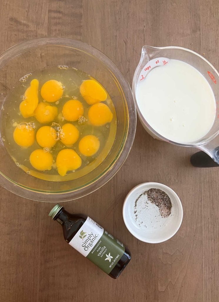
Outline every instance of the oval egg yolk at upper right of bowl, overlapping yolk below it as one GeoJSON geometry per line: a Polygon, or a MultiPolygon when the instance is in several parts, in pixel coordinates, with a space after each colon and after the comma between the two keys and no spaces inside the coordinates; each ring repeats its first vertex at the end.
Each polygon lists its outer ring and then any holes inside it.
{"type": "Polygon", "coordinates": [[[89,105],[106,101],[107,98],[105,90],[94,80],[86,80],[82,82],[80,93],[89,105]]]}

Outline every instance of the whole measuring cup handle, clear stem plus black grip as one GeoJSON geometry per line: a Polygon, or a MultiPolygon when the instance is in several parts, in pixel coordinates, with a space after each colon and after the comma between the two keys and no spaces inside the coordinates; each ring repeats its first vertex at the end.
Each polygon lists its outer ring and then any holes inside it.
{"type": "Polygon", "coordinates": [[[195,167],[210,168],[219,166],[219,135],[213,140],[198,146],[199,151],[191,156],[191,163],[195,167]]]}

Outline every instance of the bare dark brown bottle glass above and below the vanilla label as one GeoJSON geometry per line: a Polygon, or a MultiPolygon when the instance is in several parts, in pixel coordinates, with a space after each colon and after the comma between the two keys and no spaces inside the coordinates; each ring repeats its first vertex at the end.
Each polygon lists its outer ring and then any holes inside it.
{"type": "MultiPolygon", "coordinates": [[[[53,219],[57,220],[57,222],[62,225],[64,238],[66,242],[69,243],[85,223],[87,217],[88,216],[83,214],[70,214],[62,207],[53,219]]],[[[114,279],[118,278],[130,260],[131,253],[125,247],[124,254],[119,259],[119,262],[116,264],[116,266],[109,273],[109,276],[114,279]]]]}

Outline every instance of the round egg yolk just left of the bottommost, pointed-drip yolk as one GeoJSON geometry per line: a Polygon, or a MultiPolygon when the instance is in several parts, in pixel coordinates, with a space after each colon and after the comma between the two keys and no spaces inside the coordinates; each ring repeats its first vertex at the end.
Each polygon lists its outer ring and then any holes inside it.
{"type": "Polygon", "coordinates": [[[51,170],[53,157],[50,153],[37,149],[30,154],[30,163],[36,170],[51,170]]]}

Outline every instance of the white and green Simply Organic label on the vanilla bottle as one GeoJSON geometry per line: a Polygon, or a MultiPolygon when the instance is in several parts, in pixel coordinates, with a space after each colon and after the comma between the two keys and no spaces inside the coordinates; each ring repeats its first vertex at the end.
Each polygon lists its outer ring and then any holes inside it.
{"type": "Polygon", "coordinates": [[[109,274],[125,252],[125,246],[88,217],[69,244],[109,274]]]}

